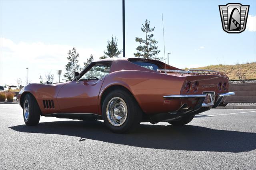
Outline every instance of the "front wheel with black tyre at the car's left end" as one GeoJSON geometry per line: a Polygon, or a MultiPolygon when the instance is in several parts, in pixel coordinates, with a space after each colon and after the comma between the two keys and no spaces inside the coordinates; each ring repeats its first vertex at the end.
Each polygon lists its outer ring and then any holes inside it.
{"type": "Polygon", "coordinates": [[[40,108],[36,102],[36,99],[26,94],[23,100],[23,119],[26,125],[37,125],[40,120],[40,108]]]}

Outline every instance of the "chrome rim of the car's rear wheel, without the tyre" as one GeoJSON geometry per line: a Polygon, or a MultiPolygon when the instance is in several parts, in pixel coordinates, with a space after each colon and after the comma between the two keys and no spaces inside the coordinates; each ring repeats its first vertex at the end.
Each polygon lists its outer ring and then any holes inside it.
{"type": "Polygon", "coordinates": [[[127,105],[120,97],[113,97],[108,102],[106,113],[109,123],[116,127],[124,124],[127,118],[127,105]]]}

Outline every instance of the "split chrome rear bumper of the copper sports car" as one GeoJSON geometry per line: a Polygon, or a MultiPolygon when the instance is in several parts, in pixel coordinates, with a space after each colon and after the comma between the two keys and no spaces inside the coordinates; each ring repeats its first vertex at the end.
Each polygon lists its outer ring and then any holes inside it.
{"type": "MultiPolygon", "coordinates": [[[[220,105],[220,103],[223,103],[228,96],[235,95],[234,92],[228,92],[228,93],[220,93],[217,95],[217,100],[214,102],[213,105],[211,105],[212,108],[217,107],[220,105]]],[[[205,99],[206,94],[202,95],[167,95],[164,96],[165,99],[188,99],[188,98],[200,98],[200,99],[205,99]]],[[[201,100],[202,101],[202,100],[201,100]]],[[[201,107],[208,107],[207,105],[203,105],[204,103],[201,104],[201,107]]]]}

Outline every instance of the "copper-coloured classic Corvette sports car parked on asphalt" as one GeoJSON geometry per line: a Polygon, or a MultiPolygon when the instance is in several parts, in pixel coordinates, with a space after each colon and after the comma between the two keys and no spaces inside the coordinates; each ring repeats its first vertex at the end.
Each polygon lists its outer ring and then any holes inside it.
{"type": "Polygon", "coordinates": [[[210,70],[184,71],[161,61],[110,58],[94,61],[73,81],[29,84],[18,94],[26,125],[40,116],[103,119],[117,133],[140,122],[185,125],[194,115],[225,106],[229,79],[210,70]]]}

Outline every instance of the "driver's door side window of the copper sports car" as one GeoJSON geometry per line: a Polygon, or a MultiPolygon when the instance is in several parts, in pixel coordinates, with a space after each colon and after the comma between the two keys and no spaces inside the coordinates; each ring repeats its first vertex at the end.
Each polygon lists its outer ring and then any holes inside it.
{"type": "Polygon", "coordinates": [[[87,80],[90,78],[90,80],[95,80],[97,77],[98,79],[108,75],[110,71],[110,64],[108,65],[102,65],[102,64],[96,64],[94,65],[90,70],[88,70],[81,78],[80,80],[87,80]]]}

